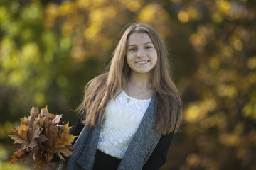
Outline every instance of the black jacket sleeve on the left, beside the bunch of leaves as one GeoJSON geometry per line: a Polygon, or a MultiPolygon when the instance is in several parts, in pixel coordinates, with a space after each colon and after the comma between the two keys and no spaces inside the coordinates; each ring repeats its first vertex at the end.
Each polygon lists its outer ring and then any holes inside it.
{"type": "MultiPolygon", "coordinates": [[[[79,118],[78,118],[78,120],[77,120],[77,123],[72,127],[72,128],[70,128],[70,134],[72,134],[73,136],[78,136],[78,135],[80,135],[80,132],[82,131],[82,128],[85,126],[83,123],[82,123],[82,121],[83,120],[85,120],[85,112],[84,113],[82,113],[80,116],[79,116],[79,118]]],[[[78,137],[75,137],[75,139],[73,140],[73,142],[72,142],[72,145],[74,145],[75,144],[75,141],[78,139],[78,137]]],[[[63,157],[65,157],[64,155],[63,155],[63,157]]],[[[67,157],[65,157],[65,159],[66,159],[67,157]]],[[[58,157],[58,154],[53,154],[53,158],[51,159],[51,161],[50,162],[58,162],[60,160],[60,157],[58,157]]]]}

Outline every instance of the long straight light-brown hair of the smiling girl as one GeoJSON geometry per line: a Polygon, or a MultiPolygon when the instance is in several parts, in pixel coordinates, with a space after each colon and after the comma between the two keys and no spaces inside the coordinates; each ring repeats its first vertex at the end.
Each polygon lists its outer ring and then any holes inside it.
{"type": "Polygon", "coordinates": [[[132,33],[147,33],[157,52],[152,79],[156,96],[154,130],[164,135],[169,132],[176,133],[182,120],[182,101],[171,79],[166,46],[156,30],[145,23],[132,23],[124,30],[113,52],[109,71],[95,77],[85,86],[82,103],[77,111],[79,113],[86,111],[83,121],[86,125],[102,124],[107,103],[127,85],[131,72],[126,60],[127,40],[132,33]]]}

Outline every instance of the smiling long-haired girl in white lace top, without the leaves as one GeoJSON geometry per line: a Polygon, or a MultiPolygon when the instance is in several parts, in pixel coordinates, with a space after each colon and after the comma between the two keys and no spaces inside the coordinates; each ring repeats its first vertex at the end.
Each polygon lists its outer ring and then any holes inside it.
{"type": "Polygon", "coordinates": [[[130,25],[109,71],[85,86],[80,118],[70,130],[78,138],[65,166],[159,169],[181,125],[181,105],[159,34],[144,23],[130,25]]]}

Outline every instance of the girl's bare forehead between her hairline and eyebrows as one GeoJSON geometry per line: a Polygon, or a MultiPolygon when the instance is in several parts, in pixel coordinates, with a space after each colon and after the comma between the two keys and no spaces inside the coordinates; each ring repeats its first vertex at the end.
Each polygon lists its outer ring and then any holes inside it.
{"type": "Polygon", "coordinates": [[[146,42],[152,43],[152,40],[149,37],[149,34],[147,33],[132,33],[131,35],[129,35],[129,38],[128,38],[128,44],[146,43],[146,42]]]}

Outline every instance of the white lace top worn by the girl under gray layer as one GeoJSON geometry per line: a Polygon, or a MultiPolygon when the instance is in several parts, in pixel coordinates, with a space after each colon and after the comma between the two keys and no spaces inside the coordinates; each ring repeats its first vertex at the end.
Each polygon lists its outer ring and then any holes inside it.
{"type": "Polygon", "coordinates": [[[122,159],[151,99],[139,100],[124,91],[108,103],[97,149],[122,159]],[[129,98],[129,102],[128,102],[129,98]]]}

